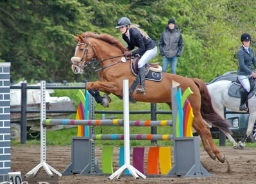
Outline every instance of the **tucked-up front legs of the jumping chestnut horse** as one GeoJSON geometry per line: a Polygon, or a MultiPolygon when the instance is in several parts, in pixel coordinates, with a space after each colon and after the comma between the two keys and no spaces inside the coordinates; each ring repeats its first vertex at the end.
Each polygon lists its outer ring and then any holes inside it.
{"type": "Polygon", "coordinates": [[[116,85],[114,82],[87,82],[86,89],[95,98],[98,104],[103,107],[109,107],[109,103],[112,101],[108,96],[113,91],[116,91],[116,85]],[[114,90],[113,90],[114,89],[114,90]],[[103,96],[99,95],[99,91],[105,93],[103,96]]]}

